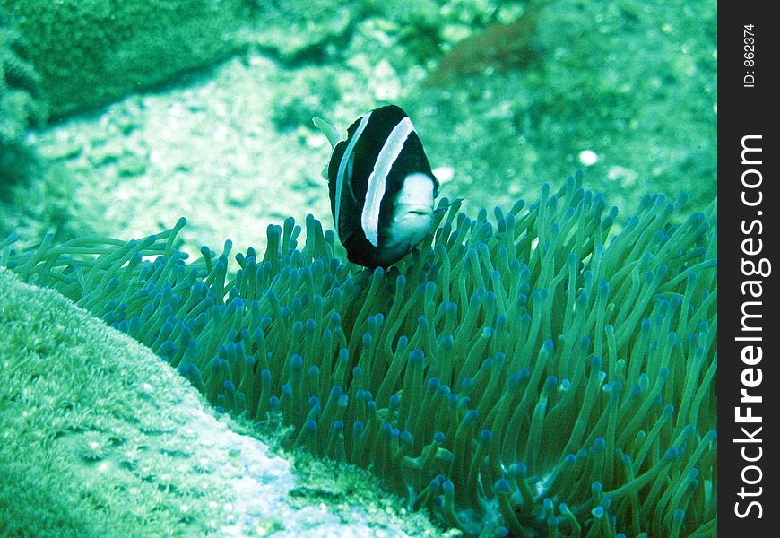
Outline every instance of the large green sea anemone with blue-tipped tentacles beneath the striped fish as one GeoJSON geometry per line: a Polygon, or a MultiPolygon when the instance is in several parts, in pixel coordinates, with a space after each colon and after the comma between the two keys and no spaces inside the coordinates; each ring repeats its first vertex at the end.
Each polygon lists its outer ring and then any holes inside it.
{"type": "Polygon", "coordinates": [[[51,238],[0,265],[148,345],[219,409],[368,467],[469,535],[716,527],[715,204],[617,208],[569,178],[472,220],[442,200],[399,265],[344,265],[309,216],[192,262],[185,225],[51,238]],[[146,261],[147,256],[156,256],[146,261]]]}

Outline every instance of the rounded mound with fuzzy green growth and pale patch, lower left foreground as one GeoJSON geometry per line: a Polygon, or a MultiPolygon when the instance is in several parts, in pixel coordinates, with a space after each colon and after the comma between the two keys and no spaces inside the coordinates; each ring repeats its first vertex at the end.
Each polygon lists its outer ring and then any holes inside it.
{"type": "Polygon", "coordinates": [[[0,536],[438,535],[372,482],[347,490],[351,469],[338,502],[293,502],[291,464],[214,415],[151,351],[0,268],[0,536]]]}

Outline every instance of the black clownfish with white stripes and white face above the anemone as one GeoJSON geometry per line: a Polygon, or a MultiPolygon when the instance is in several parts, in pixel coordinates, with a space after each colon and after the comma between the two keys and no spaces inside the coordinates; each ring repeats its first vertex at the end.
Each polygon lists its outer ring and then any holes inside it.
{"type": "Polygon", "coordinates": [[[395,105],[376,108],[352,123],[346,139],[324,119],[313,122],[333,146],[323,177],[347,258],[393,265],[429,233],[438,195],[412,120],[395,105]]]}

